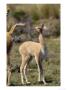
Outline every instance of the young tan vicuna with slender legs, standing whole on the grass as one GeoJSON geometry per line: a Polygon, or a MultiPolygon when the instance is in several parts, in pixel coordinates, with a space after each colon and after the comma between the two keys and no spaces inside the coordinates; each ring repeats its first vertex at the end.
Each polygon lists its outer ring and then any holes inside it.
{"type": "Polygon", "coordinates": [[[42,24],[40,28],[37,27],[35,30],[39,32],[39,43],[33,41],[26,41],[22,43],[19,47],[19,52],[22,57],[22,63],[20,66],[22,84],[24,84],[24,78],[26,80],[26,83],[30,83],[27,79],[27,65],[29,64],[29,58],[31,56],[35,57],[35,61],[37,63],[39,73],[38,81],[42,81],[44,84],[46,84],[42,67],[42,59],[45,59],[45,42],[42,35],[44,30],[44,24],[42,24]]]}

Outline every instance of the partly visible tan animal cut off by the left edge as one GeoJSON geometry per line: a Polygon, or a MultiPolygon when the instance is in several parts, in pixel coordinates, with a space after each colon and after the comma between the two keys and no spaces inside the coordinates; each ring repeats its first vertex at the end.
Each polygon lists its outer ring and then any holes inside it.
{"type": "Polygon", "coordinates": [[[13,38],[12,34],[15,30],[16,26],[25,26],[23,23],[17,23],[12,26],[9,32],[7,32],[7,84],[10,85],[10,78],[11,78],[11,64],[10,64],[10,50],[12,48],[13,38]]]}

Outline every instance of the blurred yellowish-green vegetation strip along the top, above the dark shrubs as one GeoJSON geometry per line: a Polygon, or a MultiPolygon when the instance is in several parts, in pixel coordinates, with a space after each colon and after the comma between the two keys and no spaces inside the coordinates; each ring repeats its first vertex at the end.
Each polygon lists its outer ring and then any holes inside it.
{"type": "MultiPolygon", "coordinates": [[[[7,8],[10,8],[11,14],[19,11],[23,14],[30,15],[33,20],[37,18],[60,18],[60,5],[59,4],[8,4],[7,8]]],[[[21,15],[18,14],[18,16],[21,15]]]]}

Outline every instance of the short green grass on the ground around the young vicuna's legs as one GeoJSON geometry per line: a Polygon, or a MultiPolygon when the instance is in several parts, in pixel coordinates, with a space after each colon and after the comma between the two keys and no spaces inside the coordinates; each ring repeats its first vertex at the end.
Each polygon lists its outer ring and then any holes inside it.
{"type": "MultiPolygon", "coordinates": [[[[50,38],[46,39],[48,47],[49,59],[43,61],[43,67],[45,70],[45,79],[47,86],[59,86],[60,85],[60,39],[59,38],[50,38]]],[[[13,67],[21,64],[21,57],[18,52],[18,47],[20,44],[14,44],[11,50],[11,63],[13,67]]],[[[30,69],[28,72],[28,78],[31,82],[29,86],[44,86],[37,82],[38,71],[35,60],[32,60],[30,63],[30,69]]],[[[11,77],[11,83],[13,86],[21,86],[21,79],[19,72],[13,72],[11,77]]]]}

